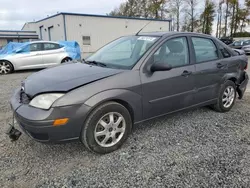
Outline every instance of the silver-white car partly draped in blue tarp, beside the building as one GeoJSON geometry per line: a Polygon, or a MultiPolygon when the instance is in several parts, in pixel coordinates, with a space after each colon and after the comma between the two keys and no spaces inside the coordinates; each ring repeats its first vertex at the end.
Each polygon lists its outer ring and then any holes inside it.
{"type": "Polygon", "coordinates": [[[9,43],[0,51],[0,74],[9,74],[14,70],[47,68],[80,58],[77,42],[9,43]]]}

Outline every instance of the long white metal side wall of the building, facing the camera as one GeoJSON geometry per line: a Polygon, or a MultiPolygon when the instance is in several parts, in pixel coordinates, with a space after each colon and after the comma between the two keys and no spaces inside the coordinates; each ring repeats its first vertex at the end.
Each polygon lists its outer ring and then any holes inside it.
{"type": "MultiPolygon", "coordinates": [[[[108,42],[137,33],[149,20],[65,15],[67,40],[76,40],[82,53],[95,52],[108,42]],[[80,26],[81,25],[81,26],[80,26]],[[82,36],[91,37],[91,45],[82,44],[82,36]]],[[[143,32],[169,31],[169,22],[152,21],[143,32]]]]}

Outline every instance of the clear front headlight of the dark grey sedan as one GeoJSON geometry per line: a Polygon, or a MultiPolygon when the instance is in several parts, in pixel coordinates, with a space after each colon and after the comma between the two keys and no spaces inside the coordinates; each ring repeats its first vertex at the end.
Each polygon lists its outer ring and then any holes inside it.
{"type": "Polygon", "coordinates": [[[64,94],[62,93],[47,93],[36,96],[31,100],[30,106],[48,110],[51,105],[64,94]]]}

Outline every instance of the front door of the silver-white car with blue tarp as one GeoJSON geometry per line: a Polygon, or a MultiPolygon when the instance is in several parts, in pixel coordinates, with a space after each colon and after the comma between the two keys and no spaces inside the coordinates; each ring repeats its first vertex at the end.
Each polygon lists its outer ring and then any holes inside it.
{"type": "Polygon", "coordinates": [[[42,43],[32,43],[17,52],[15,61],[21,69],[42,68],[42,43]]]}

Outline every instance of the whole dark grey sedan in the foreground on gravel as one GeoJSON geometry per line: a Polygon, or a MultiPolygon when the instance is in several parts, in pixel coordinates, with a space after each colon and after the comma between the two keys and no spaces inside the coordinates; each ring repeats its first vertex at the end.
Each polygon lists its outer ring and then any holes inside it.
{"type": "MultiPolygon", "coordinates": [[[[209,35],[141,33],[107,44],[84,63],[29,76],[10,103],[31,138],[79,139],[103,154],[140,122],[201,106],[229,111],[246,90],[246,68],[245,55],[209,35]]],[[[13,126],[8,134],[19,136],[13,126]]]]}

